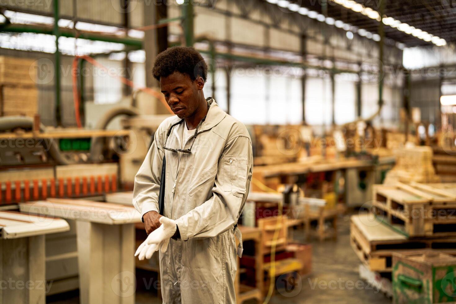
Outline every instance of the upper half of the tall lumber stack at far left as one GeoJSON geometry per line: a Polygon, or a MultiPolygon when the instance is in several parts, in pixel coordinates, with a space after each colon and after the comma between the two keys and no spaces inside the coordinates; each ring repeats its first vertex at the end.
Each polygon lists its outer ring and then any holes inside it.
{"type": "Polygon", "coordinates": [[[0,56],[0,84],[36,85],[36,64],[33,59],[0,56]]]}

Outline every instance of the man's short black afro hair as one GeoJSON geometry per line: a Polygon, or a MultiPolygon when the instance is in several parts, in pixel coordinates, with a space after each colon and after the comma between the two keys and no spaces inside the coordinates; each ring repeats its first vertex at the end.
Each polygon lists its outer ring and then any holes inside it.
{"type": "Polygon", "coordinates": [[[173,46],[158,54],[152,74],[160,81],[174,72],[187,74],[192,81],[202,77],[206,82],[207,64],[201,54],[191,46],[173,46]]]}

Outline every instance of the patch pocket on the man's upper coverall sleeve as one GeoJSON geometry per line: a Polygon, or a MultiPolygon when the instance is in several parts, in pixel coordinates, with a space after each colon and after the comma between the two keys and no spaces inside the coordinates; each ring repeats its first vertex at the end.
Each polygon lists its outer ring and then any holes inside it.
{"type": "Polygon", "coordinates": [[[234,196],[243,197],[247,183],[247,157],[239,155],[225,155],[222,158],[223,191],[234,196]]]}

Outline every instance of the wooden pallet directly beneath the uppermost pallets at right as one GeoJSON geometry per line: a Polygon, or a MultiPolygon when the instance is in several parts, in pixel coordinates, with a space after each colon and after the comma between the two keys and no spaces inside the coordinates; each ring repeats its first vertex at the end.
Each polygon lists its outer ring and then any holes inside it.
{"type": "Polygon", "coordinates": [[[456,255],[456,237],[409,239],[388,226],[376,223],[371,215],[351,217],[350,244],[371,271],[391,272],[394,252],[437,249],[456,255]]]}

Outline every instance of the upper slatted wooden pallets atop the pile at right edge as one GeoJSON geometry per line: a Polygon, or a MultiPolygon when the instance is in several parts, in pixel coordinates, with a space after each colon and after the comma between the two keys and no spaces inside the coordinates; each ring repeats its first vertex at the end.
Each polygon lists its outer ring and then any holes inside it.
{"type": "Polygon", "coordinates": [[[410,237],[456,236],[456,193],[412,183],[375,185],[373,211],[410,237]]]}

